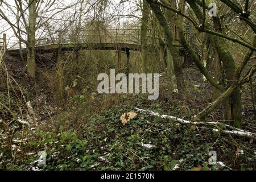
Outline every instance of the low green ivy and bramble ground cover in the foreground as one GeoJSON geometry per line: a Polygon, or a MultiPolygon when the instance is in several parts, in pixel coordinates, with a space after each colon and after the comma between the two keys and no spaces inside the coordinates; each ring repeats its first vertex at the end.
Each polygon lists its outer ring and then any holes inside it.
{"type": "MultiPolygon", "coordinates": [[[[130,100],[143,102],[143,97],[131,96],[130,100]]],[[[75,98],[80,105],[82,98],[75,98]]],[[[151,109],[164,112],[157,106],[151,109]]],[[[15,162],[7,164],[6,168],[172,170],[177,164],[181,170],[228,169],[220,164],[209,165],[208,154],[214,150],[217,160],[230,168],[255,169],[254,144],[214,133],[210,127],[183,126],[141,113],[123,126],[120,121],[122,113],[134,111],[133,106],[123,104],[80,118],[81,122],[75,127],[72,122],[76,111],[53,121],[49,131],[43,128],[35,130],[34,138],[23,143],[26,146],[23,152],[30,155],[16,155],[15,162]],[[237,148],[244,153],[240,155],[237,148]],[[46,165],[38,165],[38,151],[46,151],[46,165]]]]}

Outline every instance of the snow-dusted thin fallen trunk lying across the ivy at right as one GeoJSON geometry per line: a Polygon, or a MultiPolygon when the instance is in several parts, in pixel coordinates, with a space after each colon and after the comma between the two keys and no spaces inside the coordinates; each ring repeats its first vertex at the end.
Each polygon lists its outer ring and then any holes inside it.
{"type": "MultiPolygon", "coordinates": [[[[229,129],[232,129],[232,130],[221,130],[222,133],[233,134],[233,135],[237,135],[237,136],[249,137],[249,138],[256,139],[256,134],[255,133],[252,133],[250,131],[245,131],[245,130],[242,130],[242,129],[238,129],[238,128],[233,127],[233,126],[226,125],[225,123],[187,121],[187,120],[177,118],[177,117],[174,117],[174,116],[171,116],[171,115],[165,115],[165,114],[161,115],[161,114],[156,113],[154,111],[139,109],[137,107],[135,107],[135,110],[137,110],[138,112],[141,112],[141,113],[147,113],[148,115],[155,116],[155,117],[172,119],[173,121],[179,122],[180,124],[183,124],[183,125],[215,125],[215,126],[221,126],[222,125],[222,126],[225,126],[229,129]]],[[[213,129],[213,131],[220,132],[219,129],[213,129]]]]}

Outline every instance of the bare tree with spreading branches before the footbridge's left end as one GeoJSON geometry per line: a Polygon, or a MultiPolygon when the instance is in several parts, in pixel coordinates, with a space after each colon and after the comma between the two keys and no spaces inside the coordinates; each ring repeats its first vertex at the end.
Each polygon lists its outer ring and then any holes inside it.
{"type": "Polygon", "coordinates": [[[54,16],[73,5],[65,6],[57,0],[15,0],[14,5],[9,1],[2,1],[4,9],[0,10],[1,18],[10,25],[19,42],[26,44],[27,72],[30,77],[35,77],[36,32],[54,16]]]}

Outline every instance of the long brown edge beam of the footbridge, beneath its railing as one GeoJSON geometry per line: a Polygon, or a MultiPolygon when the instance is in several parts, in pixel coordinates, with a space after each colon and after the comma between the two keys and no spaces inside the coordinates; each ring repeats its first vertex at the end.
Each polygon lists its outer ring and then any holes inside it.
{"type": "MultiPolygon", "coordinates": [[[[79,50],[121,50],[121,51],[141,51],[141,45],[131,43],[67,43],[67,44],[51,44],[47,46],[36,46],[35,51],[38,53],[79,51],[79,50]]],[[[7,52],[11,54],[20,53],[19,49],[9,49],[7,52]]],[[[22,49],[26,53],[26,48],[22,49]]]]}

